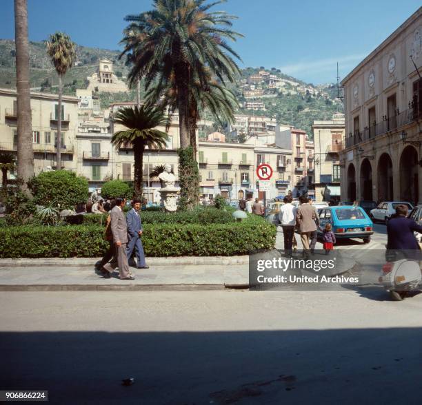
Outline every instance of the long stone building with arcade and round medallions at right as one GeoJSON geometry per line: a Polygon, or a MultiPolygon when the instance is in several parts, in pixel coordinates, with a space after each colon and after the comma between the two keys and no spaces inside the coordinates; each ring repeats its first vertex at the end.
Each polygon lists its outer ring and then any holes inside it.
{"type": "Polygon", "coordinates": [[[343,200],[422,203],[421,36],[419,8],[341,82],[343,200]]]}

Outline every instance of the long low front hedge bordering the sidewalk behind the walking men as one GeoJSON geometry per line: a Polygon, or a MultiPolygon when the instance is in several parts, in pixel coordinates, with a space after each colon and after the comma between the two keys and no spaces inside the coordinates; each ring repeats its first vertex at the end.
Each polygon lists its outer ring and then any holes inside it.
{"type": "MultiPolygon", "coordinates": [[[[108,247],[99,225],[5,227],[0,229],[0,258],[99,257],[108,247]]],[[[272,249],[276,228],[261,218],[198,225],[146,224],[143,247],[154,256],[234,256],[272,249]]]]}

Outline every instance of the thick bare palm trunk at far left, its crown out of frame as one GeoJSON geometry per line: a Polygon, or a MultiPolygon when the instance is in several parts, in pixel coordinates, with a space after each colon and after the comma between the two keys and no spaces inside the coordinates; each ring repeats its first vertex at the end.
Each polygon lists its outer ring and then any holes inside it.
{"type": "Polygon", "coordinates": [[[14,0],[17,87],[17,174],[23,180],[22,190],[30,194],[27,182],[34,176],[32,150],[32,117],[29,75],[27,0],[14,0]]]}

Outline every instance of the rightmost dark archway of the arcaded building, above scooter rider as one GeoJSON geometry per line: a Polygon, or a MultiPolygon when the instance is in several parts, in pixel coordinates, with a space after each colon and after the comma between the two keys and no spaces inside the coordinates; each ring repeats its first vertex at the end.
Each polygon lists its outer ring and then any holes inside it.
{"type": "Polygon", "coordinates": [[[400,199],[413,205],[419,199],[418,152],[410,145],[400,157],[400,199]]]}

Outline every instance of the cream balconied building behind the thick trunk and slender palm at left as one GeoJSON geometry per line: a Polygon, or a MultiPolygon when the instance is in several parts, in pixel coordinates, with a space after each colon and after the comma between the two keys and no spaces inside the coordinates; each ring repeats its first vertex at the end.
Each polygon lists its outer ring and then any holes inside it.
{"type": "MultiPolygon", "coordinates": [[[[76,170],[78,98],[63,96],[61,109],[61,167],[76,170]]],[[[57,165],[57,94],[31,93],[34,172],[57,165]]],[[[16,90],[0,89],[0,150],[17,152],[16,90]]]]}

